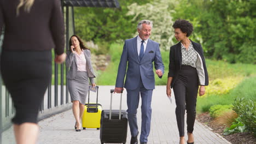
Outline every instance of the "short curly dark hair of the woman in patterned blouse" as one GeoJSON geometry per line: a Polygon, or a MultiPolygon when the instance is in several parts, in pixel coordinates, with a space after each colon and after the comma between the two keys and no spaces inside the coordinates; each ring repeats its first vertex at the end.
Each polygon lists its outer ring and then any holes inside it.
{"type": "Polygon", "coordinates": [[[178,19],[173,25],[173,28],[180,28],[183,33],[187,33],[187,37],[193,32],[193,25],[187,20],[178,19]]]}

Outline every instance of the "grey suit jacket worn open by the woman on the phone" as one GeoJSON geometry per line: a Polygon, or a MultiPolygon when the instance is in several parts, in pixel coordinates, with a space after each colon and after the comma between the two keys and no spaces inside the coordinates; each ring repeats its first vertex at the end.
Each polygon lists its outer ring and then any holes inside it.
{"type": "MultiPolygon", "coordinates": [[[[66,67],[68,68],[67,78],[68,79],[74,79],[75,75],[77,74],[77,59],[75,58],[75,54],[72,53],[70,50],[66,52],[67,58],[66,58],[66,67]]],[[[91,65],[91,51],[90,50],[84,50],[84,56],[86,59],[86,70],[88,71],[88,77],[90,79],[91,83],[94,83],[94,69],[91,65]]]]}

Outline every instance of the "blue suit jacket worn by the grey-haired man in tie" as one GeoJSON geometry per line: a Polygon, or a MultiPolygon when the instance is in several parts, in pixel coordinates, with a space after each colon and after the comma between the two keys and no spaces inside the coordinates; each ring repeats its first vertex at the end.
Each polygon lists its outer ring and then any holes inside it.
{"type": "Polygon", "coordinates": [[[162,63],[159,43],[148,39],[148,44],[146,51],[144,52],[144,56],[141,61],[139,61],[137,51],[137,37],[125,40],[123,53],[121,55],[118,67],[118,75],[115,87],[125,87],[126,89],[131,90],[136,89],[139,87],[139,81],[141,79],[146,89],[154,89],[155,77],[153,71],[153,62],[155,69],[162,70],[162,73],[164,74],[164,64],[162,63]],[[124,85],[125,75],[126,80],[124,85]]]}

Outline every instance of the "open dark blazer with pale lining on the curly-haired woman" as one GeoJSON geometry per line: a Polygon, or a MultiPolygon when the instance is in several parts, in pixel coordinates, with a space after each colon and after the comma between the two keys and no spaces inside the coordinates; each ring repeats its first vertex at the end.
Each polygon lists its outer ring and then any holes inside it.
{"type": "MultiPolygon", "coordinates": [[[[205,57],[203,56],[202,46],[198,43],[192,41],[193,47],[197,52],[196,70],[199,77],[199,85],[207,86],[209,84],[208,72],[205,63],[205,57]]],[[[170,48],[170,63],[169,63],[169,73],[168,77],[173,77],[171,82],[171,88],[173,87],[177,77],[179,75],[179,70],[181,70],[182,64],[182,52],[181,52],[181,42],[170,48]]]]}

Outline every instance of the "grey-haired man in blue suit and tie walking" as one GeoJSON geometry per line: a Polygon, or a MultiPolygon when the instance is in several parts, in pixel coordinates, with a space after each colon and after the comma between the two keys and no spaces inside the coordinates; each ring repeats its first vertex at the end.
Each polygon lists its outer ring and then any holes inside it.
{"type": "Polygon", "coordinates": [[[138,36],[125,40],[118,67],[117,81],[115,83],[115,92],[120,93],[123,87],[127,91],[127,113],[132,144],[138,143],[137,136],[139,132],[136,113],[139,103],[139,93],[141,93],[142,99],[142,124],[139,141],[143,144],[148,142],[152,113],[152,92],[155,88],[153,62],[156,74],[160,78],[164,74],[164,64],[162,63],[159,43],[149,39],[152,27],[153,23],[151,21],[142,20],[137,26],[138,36]],[[125,74],[126,80],[124,84],[125,74]]]}

